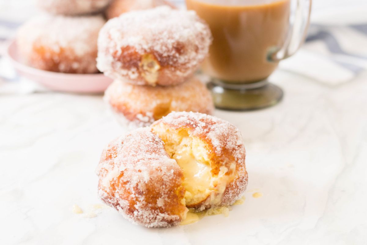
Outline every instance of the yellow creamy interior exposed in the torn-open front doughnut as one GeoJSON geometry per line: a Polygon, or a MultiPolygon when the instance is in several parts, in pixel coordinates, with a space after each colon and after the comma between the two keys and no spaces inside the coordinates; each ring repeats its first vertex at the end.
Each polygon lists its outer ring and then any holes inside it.
{"type": "Polygon", "coordinates": [[[207,206],[220,205],[227,184],[235,177],[236,163],[223,164],[228,167],[221,166],[219,173],[213,176],[207,144],[200,138],[191,137],[185,128],[156,126],[153,131],[159,134],[168,155],[183,170],[186,206],[204,210],[207,206]]]}

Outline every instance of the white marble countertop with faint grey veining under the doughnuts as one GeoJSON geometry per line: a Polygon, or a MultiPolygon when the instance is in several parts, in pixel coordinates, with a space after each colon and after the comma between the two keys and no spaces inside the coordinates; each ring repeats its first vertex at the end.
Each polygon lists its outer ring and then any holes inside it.
{"type": "Polygon", "coordinates": [[[366,244],[367,73],[338,86],[279,70],[271,80],[279,105],[215,112],[243,134],[244,203],[172,228],[95,206],[102,148],[124,133],[101,96],[1,96],[0,244],[366,244]]]}

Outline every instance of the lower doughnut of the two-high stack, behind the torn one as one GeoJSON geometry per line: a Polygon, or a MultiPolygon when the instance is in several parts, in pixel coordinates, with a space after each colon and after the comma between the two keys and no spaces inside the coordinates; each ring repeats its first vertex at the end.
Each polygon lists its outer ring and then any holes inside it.
{"type": "Polygon", "coordinates": [[[139,86],[115,80],[104,98],[121,125],[129,128],[149,126],[171,111],[206,114],[214,111],[210,92],[196,77],[167,87],[139,86]]]}

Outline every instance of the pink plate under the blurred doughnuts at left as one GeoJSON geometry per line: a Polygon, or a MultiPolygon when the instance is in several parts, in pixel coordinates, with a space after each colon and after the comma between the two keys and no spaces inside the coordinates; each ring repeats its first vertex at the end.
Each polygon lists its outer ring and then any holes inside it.
{"type": "Polygon", "coordinates": [[[101,93],[112,83],[112,79],[102,73],[68,74],[43,71],[24,65],[18,57],[17,43],[14,40],[10,43],[7,51],[10,61],[19,74],[55,91],[101,93]]]}

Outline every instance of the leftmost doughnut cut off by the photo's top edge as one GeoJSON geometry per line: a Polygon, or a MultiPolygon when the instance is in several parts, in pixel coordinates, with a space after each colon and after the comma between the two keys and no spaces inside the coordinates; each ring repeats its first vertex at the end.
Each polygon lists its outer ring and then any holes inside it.
{"type": "Polygon", "coordinates": [[[80,15],[101,11],[111,0],[37,0],[37,5],[51,14],[80,15]]]}

